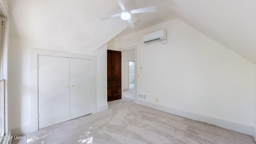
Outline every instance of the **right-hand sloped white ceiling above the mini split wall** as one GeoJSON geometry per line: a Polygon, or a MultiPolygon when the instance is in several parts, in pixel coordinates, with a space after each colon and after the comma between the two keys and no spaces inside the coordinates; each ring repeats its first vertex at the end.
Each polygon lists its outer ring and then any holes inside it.
{"type": "Polygon", "coordinates": [[[180,20],[256,64],[256,0],[172,1],[180,20]]]}

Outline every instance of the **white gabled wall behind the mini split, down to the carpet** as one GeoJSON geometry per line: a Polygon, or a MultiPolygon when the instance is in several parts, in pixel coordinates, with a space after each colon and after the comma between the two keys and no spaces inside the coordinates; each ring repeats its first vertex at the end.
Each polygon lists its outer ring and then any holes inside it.
{"type": "Polygon", "coordinates": [[[109,47],[138,45],[136,103],[252,135],[256,66],[174,19],[115,38],[109,47]],[[167,30],[167,44],[144,45],[142,35],[167,30]],[[159,102],[156,103],[156,98],[159,102]]]}

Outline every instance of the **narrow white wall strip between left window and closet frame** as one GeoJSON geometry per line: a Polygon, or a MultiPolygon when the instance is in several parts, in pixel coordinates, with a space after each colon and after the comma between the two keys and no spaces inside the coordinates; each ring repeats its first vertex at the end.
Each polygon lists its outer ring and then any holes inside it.
{"type": "Polygon", "coordinates": [[[30,124],[30,45],[18,38],[10,38],[8,114],[11,130],[30,124]]]}

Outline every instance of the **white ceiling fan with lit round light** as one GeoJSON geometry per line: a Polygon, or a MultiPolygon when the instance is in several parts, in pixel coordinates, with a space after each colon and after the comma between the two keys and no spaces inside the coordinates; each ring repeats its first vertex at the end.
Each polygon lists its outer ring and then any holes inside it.
{"type": "Polygon", "coordinates": [[[107,16],[107,17],[104,17],[104,18],[100,18],[100,20],[106,20],[106,19],[109,19],[109,18],[114,18],[116,16],[120,16],[120,18],[122,20],[127,20],[130,27],[131,28],[134,28],[134,24],[131,20],[132,16],[131,14],[137,14],[137,13],[144,13],[144,12],[156,12],[156,6],[152,6],[152,7],[147,7],[147,8],[139,8],[139,9],[136,9],[136,10],[126,10],[124,8],[124,4],[122,2],[122,0],[117,0],[119,6],[121,7],[122,9],[122,12],[120,14],[114,14],[114,15],[111,15],[111,16],[107,16]]]}

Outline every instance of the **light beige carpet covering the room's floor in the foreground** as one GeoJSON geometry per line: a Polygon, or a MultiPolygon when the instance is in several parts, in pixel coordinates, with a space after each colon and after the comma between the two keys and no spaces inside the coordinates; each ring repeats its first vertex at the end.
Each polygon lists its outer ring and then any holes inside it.
{"type": "Polygon", "coordinates": [[[13,144],[256,144],[252,136],[127,101],[109,109],[23,135],[13,144]]]}

